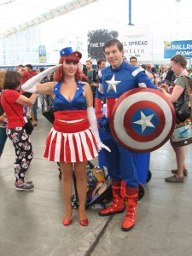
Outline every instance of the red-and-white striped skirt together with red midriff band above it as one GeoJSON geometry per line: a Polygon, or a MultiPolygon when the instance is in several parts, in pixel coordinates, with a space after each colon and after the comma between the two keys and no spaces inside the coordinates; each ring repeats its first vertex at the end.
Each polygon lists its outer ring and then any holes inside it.
{"type": "Polygon", "coordinates": [[[86,110],[55,112],[55,121],[46,140],[44,157],[50,161],[74,163],[94,159],[96,139],[86,110]]]}

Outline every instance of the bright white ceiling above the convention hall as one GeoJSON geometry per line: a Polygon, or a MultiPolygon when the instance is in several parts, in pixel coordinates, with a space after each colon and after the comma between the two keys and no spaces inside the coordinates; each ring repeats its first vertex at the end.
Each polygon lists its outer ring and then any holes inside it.
{"type": "MultiPolygon", "coordinates": [[[[177,27],[178,32],[182,27],[187,27],[187,38],[191,38],[191,2],[132,0],[131,21],[135,26],[153,27],[157,36],[161,27],[169,30],[170,34],[172,26],[177,27]]],[[[62,30],[66,30],[66,24],[67,28],[79,27],[80,31],[127,26],[128,3],[129,0],[0,0],[0,39],[57,16],[55,20],[60,20],[62,30]]],[[[48,26],[47,22],[44,22],[44,26],[48,26]]]]}

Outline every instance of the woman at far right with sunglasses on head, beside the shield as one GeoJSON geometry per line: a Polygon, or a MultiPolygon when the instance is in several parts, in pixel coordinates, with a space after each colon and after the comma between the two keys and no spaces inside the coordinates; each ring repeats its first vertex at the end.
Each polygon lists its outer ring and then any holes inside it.
{"type": "MultiPolygon", "coordinates": [[[[184,76],[186,76],[188,79],[189,73],[186,70],[187,61],[183,55],[174,55],[171,59],[171,67],[172,71],[176,74],[177,79],[174,81],[174,88],[172,90],[172,94],[170,94],[169,86],[166,83],[160,84],[159,90],[167,96],[167,98],[170,99],[170,101],[173,103],[174,107],[177,105],[180,105],[182,102],[188,100],[188,95],[186,93],[186,84],[184,82],[184,76]]],[[[171,142],[172,145],[172,142],[171,142]]],[[[184,154],[184,147],[174,147],[172,145],[172,148],[176,154],[176,160],[177,160],[177,169],[172,170],[172,173],[174,174],[171,177],[166,177],[166,182],[169,183],[183,183],[184,177],[188,175],[188,171],[186,169],[184,160],[185,160],[185,154],[184,154]]]]}

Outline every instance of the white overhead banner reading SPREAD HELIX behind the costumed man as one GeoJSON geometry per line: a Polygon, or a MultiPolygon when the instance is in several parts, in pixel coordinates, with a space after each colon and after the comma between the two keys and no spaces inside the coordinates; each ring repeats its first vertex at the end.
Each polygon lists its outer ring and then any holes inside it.
{"type": "Polygon", "coordinates": [[[111,38],[123,44],[125,56],[136,56],[138,61],[150,60],[149,28],[126,27],[120,30],[98,29],[88,32],[88,57],[91,60],[105,58],[103,45],[111,38]]]}

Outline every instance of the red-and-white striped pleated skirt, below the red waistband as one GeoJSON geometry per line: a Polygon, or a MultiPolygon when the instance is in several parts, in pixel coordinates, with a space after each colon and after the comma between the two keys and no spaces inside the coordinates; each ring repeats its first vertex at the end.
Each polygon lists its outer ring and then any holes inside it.
{"type": "Polygon", "coordinates": [[[48,160],[65,163],[85,162],[97,155],[96,140],[90,128],[74,133],[55,131],[54,127],[49,131],[44,152],[44,157],[48,160]]]}

